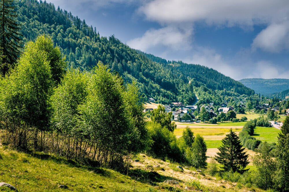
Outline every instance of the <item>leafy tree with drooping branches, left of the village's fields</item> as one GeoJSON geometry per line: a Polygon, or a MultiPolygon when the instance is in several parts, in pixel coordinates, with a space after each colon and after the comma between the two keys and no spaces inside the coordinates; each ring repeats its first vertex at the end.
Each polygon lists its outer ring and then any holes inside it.
{"type": "Polygon", "coordinates": [[[159,123],[163,128],[167,128],[173,132],[177,125],[175,122],[171,122],[172,112],[166,113],[163,106],[159,105],[157,109],[151,111],[151,121],[159,123]]]}

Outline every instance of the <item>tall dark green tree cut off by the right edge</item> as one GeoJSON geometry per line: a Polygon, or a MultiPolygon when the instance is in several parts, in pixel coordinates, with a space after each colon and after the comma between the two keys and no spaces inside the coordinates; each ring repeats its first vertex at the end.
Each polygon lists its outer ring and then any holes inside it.
{"type": "Polygon", "coordinates": [[[277,171],[275,183],[280,191],[289,191],[289,117],[287,116],[281,127],[277,144],[277,171]]]}

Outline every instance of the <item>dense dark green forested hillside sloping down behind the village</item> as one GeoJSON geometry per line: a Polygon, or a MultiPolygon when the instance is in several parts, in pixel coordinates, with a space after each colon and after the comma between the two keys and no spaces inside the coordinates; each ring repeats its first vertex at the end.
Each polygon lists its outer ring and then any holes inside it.
{"type": "Polygon", "coordinates": [[[166,61],[131,49],[113,35],[101,37],[97,28],[88,26],[85,20],[59,7],[55,9],[46,1],[21,0],[15,3],[24,41],[49,34],[66,55],[68,69],[89,69],[101,61],[121,75],[125,82],[136,81],[145,100],[153,97],[160,103],[180,101],[192,104],[195,93],[198,93],[201,101],[219,103],[223,100],[221,95],[254,93],[213,69],[166,61]],[[206,90],[218,93],[218,96],[212,98],[203,92],[206,90]]]}

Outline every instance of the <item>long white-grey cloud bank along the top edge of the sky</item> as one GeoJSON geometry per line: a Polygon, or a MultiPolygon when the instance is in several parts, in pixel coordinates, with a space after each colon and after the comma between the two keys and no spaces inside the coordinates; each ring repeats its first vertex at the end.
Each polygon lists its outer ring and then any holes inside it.
{"type": "Polygon", "coordinates": [[[149,20],[160,23],[194,22],[229,25],[268,23],[288,15],[287,0],[153,0],[139,9],[149,20]]]}

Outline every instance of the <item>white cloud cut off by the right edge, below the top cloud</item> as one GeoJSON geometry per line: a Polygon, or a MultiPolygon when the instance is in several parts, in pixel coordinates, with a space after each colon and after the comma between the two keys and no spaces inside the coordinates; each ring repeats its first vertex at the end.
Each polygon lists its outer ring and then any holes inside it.
{"type": "Polygon", "coordinates": [[[261,48],[268,52],[280,52],[289,49],[289,22],[271,24],[262,30],[253,40],[252,48],[261,48]]]}

